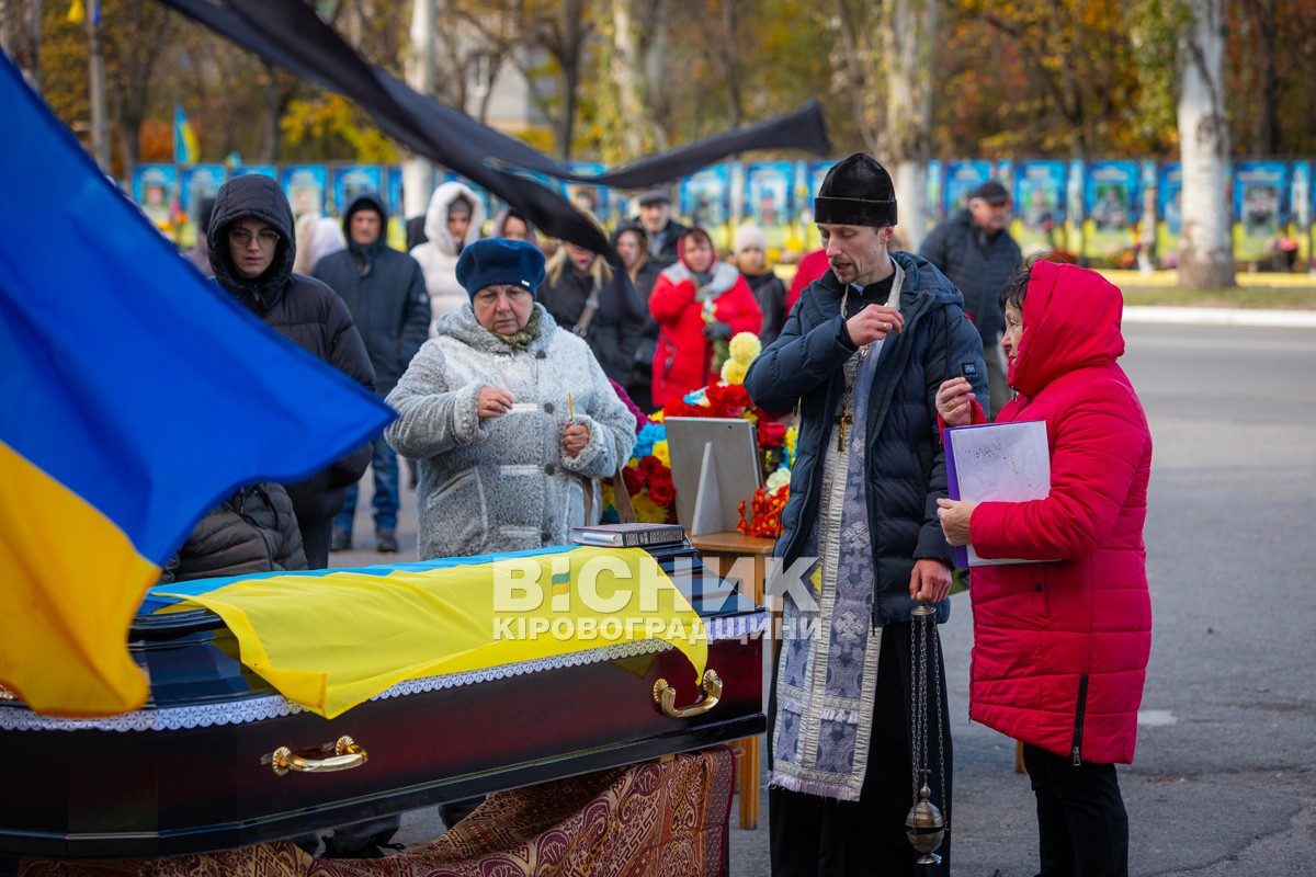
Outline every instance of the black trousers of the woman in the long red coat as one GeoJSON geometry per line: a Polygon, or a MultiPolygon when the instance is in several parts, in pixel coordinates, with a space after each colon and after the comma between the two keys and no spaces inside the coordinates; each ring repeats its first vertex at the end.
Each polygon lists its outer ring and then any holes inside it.
{"type": "Polygon", "coordinates": [[[1128,877],[1129,817],[1113,764],[1024,746],[1037,795],[1038,877],[1128,877]]]}

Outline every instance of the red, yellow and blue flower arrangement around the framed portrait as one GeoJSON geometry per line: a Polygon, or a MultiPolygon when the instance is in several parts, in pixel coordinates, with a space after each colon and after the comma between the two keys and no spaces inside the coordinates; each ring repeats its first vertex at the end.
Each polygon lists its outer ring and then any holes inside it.
{"type": "MultiPolygon", "coordinates": [[[[721,367],[721,381],[688,393],[680,401],[667,402],[663,410],[645,418],[636,437],[636,448],[621,469],[636,518],[651,523],[676,522],[676,489],[671,480],[671,455],[667,448],[667,417],[744,417],[755,425],[759,463],[765,486],[754,493],[750,518],[741,504],[738,529],[749,535],[780,535],[782,509],[790,493],[791,465],[795,462],[797,427],[787,427],[775,414],[757,408],[745,391],[749,364],[762,351],[753,333],[742,331],[728,343],[728,358],[721,367]]],[[[605,522],[617,519],[616,497],[604,485],[605,522]]]]}

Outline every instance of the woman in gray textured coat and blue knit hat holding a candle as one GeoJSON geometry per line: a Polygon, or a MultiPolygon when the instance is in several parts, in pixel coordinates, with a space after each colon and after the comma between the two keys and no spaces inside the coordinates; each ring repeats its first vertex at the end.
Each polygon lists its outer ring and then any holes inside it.
{"type": "Polygon", "coordinates": [[[630,456],[636,418],[534,300],[537,247],[476,241],[457,279],[470,304],[440,318],[387,400],[400,414],[388,443],[420,460],[418,555],[565,544],[586,523],[588,480],[630,456]]]}

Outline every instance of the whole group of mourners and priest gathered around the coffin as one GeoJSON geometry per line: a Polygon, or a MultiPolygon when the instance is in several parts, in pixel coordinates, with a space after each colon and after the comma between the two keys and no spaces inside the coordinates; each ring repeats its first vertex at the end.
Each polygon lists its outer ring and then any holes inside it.
{"type": "MultiPolygon", "coordinates": [[[[271,180],[226,183],[205,205],[207,259],[190,258],[399,418],[303,481],[230,497],[166,575],[325,568],[330,550],[351,546],[367,465],[375,547],[396,552],[399,455],[416,462],[421,560],[563,544],[597,519],[599,479],[634,447],[628,402],[657,408],[715,381],[719,344],[754,333],[763,352],[746,391],[800,423],[775,554],[784,569],[815,559],[786,589],[772,673],[772,873],[920,868],[904,827],[917,767],[912,650],[941,680],[940,715],[948,686],[937,632],[916,636],[912,613],[946,618],[951,546],[973,544],[982,557],[1046,559],[971,572],[971,715],[1024,743],[1042,873],[1126,874],[1113,765],[1133,757],[1150,644],[1152,448],[1116,364],[1119,289],[1074,266],[1021,266],[996,183],[920,254],[895,249],[896,193],[863,154],[824,179],[813,205],[822,249],[790,289],[753,225],[721,259],[707,230],[672,218],[666,192],[638,205],[612,233],[613,263],[542,239],[512,209],[483,237],[480,200],[445,183],[408,224],[404,254],[386,245],[374,193],[328,229],[295,222],[271,180]],[[301,251],[318,247],[309,276],[296,272],[301,251]],[[996,418],[1045,421],[1045,500],[949,498],[941,430],[996,418]]],[[[949,814],[949,730],[938,746],[928,785],[949,814]]],[[[345,830],[330,848],[370,855],[395,828],[345,830]]],[[[925,873],[950,873],[949,835],[940,852],[925,873]]]]}

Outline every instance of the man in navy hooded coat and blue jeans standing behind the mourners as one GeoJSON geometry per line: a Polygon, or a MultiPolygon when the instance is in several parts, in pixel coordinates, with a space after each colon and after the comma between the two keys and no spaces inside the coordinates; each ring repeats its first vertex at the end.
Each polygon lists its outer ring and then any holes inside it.
{"type": "MultiPolygon", "coordinates": [[[[333,252],[312,273],[329,284],[347,304],[357,330],[366,342],[370,364],[375,368],[375,392],[380,397],[396,387],[412,356],[429,337],[429,293],[420,264],[405,252],[388,247],[384,230],[388,212],[383,200],[367,192],[358,195],[343,210],[342,229],[347,249],[333,252]]],[[[375,513],[375,548],[384,554],[397,551],[397,455],[388,447],[383,433],[371,442],[370,467],[375,473],[371,500],[375,513]]],[[[357,513],[357,485],[347,488],[347,498],[334,518],[330,551],[351,547],[353,519],[357,513]]]]}

